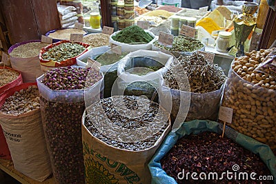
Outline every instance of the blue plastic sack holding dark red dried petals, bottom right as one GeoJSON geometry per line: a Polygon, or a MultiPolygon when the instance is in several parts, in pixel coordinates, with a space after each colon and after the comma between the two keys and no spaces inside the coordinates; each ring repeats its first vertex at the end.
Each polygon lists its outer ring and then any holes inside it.
{"type": "MultiPolygon", "coordinates": [[[[170,132],[165,140],[163,141],[163,143],[161,144],[161,146],[159,147],[159,149],[157,150],[157,152],[155,153],[154,156],[152,156],[152,159],[150,161],[150,163],[148,164],[148,167],[150,169],[150,174],[152,176],[152,183],[173,183],[173,184],[177,184],[176,178],[178,177],[178,180],[181,182],[187,182],[186,178],[197,178],[197,182],[201,181],[201,178],[204,178],[205,182],[207,183],[222,183],[222,179],[226,179],[227,175],[226,175],[226,170],[221,170],[221,168],[216,168],[215,165],[210,165],[208,163],[214,163],[214,162],[218,162],[217,165],[221,165],[219,159],[221,158],[216,158],[215,155],[216,154],[220,154],[221,152],[224,153],[224,155],[230,154],[231,158],[235,157],[235,155],[233,156],[233,154],[238,154],[237,152],[237,148],[233,148],[235,150],[219,150],[219,147],[221,147],[221,144],[219,145],[215,145],[215,139],[213,139],[213,141],[208,141],[208,143],[206,143],[206,145],[203,145],[203,143],[199,143],[199,147],[203,147],[205,146],[206,150],[203,150],[204,148],[202,148],[202,150],[199,150],[199,148],[197,148],[198,150],[196,151],[199,155],[197,155],[197,153],[195,153],[195,147],[197,147],[197,145],[193,145],[188,147],[183,145],[183,147],[181,147],[181,153],[179,152],[179,155],[184,154],[184,152],[186,153],[186,150],[188,151],[188,149],[190,149],[189,154],[185,154],[186,156],[181,156],[181,158],[179,158],[179,156],[177,156],[175,154],[175,157],[172,157],[172,161],[170,161],[170,165],[173,165],[172,167],[175,168],[171,168],[171,170],[168,169],[168,167],[166,167],[162,164],[165,163],[164,159],[166,156],[170,157],[172,156],[172,154],[170,154],[170,151],[172,149],[175,149],[175,147],[181,146],[180,143],[177,143],[177,141],[179,141],[180,139],[184,139],[185,137],[187,137],[188,135],[196,135],[196,134],[200,134],[201,132],[204,132],[207,134],[207,132],[213,132],[213,133],[217,133],[217,134],[221,134],[223,130],[223,124],[221,123],[217,123],[215,121],[207,121],[207,120],[194,120],[194,121],[189,121],[189,122],[184,122],[181,127],[179,127],[177,130],[170,132]],[[215,150],[217,148],[217,150],[215,150]],[[193,150],[193,151],[192,151],[193,150]],[[208,154],[209,153],[209,154],[208,154]],[[187,158],[188,157],[188,158],[187,158]],[[204,157],[204,158],[202,158],[204,157]],[[204,159],[201,161],[201,159],[204,159]],[[181,161],[184,162],[182,167],[179,167],[179,163],[181,163],[181,161]],[[189,167],[185,167],[185,163],[188,162],[193,162],[193,164],[190,164],[189,167]],[[205,165],[206,163],[206,165],[205,165]],[[204,170],[205,172],[202,173],[200,172],[202,169],[206,167],[206,169],[204,170]],[[213,168],[211,170],[212,175],[210,175],[210,172],[208,173],[206,170],[208,170],[208,168],[213,168]],[[169,172],[171,173],[171,175],[168,175],[168,172],[165,172],[165,170],[169,170],[169,172]],[[194,171],[193,171],[194,170],[194,171]],[[199,170],[199,172],[196,172],[195,170],[199,170]],[[192,174],[189,175],[188,174],[192,174]],[[193,174],[193,172],[195,172],[196,174],[193,174]],[[221,175],[221,172],[224,172],[225,174],[221,175]],[[175,176],[176,174],[176,176],[175,176]],[[217,178],[216,175],[213,174],[217,174],[217,178]],[[174,175],[174,176],[172,176],[174,175]],[[192,177],[193,176],[193,177],[192,177]],[[208,178],[208,176],[210,176],[210,178],[208,178]],[[199,178],[200,177],[200,178],[199,178]],[[219,179],[219,180],[218,180],[219,179]],[[215,181],[216,180],[216,181],[215,181]]],[[[202,134],[202,133],[201,133],[202,134]]],[[[218,136],[218,135],[217,135],[218,136]]],[[[245,136],[244,134],[240,134],[239,132],[236,132],[235,130],[233,130],[230,127],[226,126],[226,131],[224,133],[224,138],[217,138],[217,140],[223,140],[223,139],[230,139],[230,141],[228,141],[228,143],[226,142],[226,144],[230,145],[230,147],[235,147],[235,143],[237,143],[239,146],[242,146],[242,148],[244,148],[244,154],[242,155],[238,155],[237,159],[231,159],[230,161],[227,159],[223,160],[223,163],[225,165],[229,165],[229,170],[227,172],[229,172],[230,175],[229,176],[229,180],[233,180],[234,181],[234,177],[237,176],[240,179],[238,179],[237,177],[235,178],[235,181],[240,180],[240,181],[245,181],[246,176],[242,175],[242,174],[247,174],[248,179],[250,179],[250,181],[253,183],[254,180],[252,178],[250,178],[251,176],[253,178],[255,178],[255,180],[257,180],[257,174],[260,174],[260,172],[262,171],[262,173],[265,176],[269,176],[270,179],[269,181],[266,180],[264,182],[267,183],[276,183],[276,157],[273,154],[272,150],[270,150],[270,147],[268,147],[268,145],[265,145],[263,143],[260,143],[258,141],[255,141],[254,139],[245,136]],[[226,138],[225,138],[226,137],[226,138]],[[232,141],[231,141],[232,140],[232,141]],[[246,150],[245,150],[246,149],[246,150]],[[249,152],[248,152],[249,150],[249,152]],[[244,158],[244,164],[242,165],[242,161],[241,163],[237,163],[237,160],[241,160],[240,158],[242,158],[243,156],[246,157],[247,155],[253,155],[255,154],[255,156],[259,156],[259,162],[262,160],[264,163],[260,163],[261,165],[255,165],[255,167],[253,167],[253,169],[255,170],[255,172],[246,172],[246,168],[251,168],[256,161],[250,161],[249,157],[248,157],[248,163],[253,164],[253,165],[247,165],[246,164],[246,159],[244,158]],[[264,169],[264,167],[266,166],[266,168],[264,169]],[[262,169],[261,169],[262,168],[262,169]],[[266,173],[263,170],[266,170],[267,172],[270,173],[266,173]],[[253,173],[255,173],[254,175],[252,175],[253,173]],[[234,176],[235,174],[235,176],[234,176]],[[251,175],[250,175],[251,174],[251,175]],[[232,176],[232,177],[231,177],[232,176]],[[232,179],[231,179],[232,178],[232,179]]],[[[199,141],[204,141],[204,139],[200,139],[199,141]]],[[[191,142],[191,141],[190,141],[191,142]]],[[[195,142],[193,142],[195,144],[195,142]]],[[[216,142],[217,143],[217,142],[216,142]]],[[[239,152],[239,154],[241,154],[241,152],[239,152]]],[[[221,156],[221,155],[220,155],[221,156]]],[[[230,158],[230,156],[228,156],[230,158]]],[[[255,157],[255,158],[256,158],[255,157]]],[[[227,183],[229,182],[226,181],[227,183]]],[[[204,182],[201,181],[201,182],[204,182]]],[[[246,179],[245,182],[249,182],[246,179]]]]}

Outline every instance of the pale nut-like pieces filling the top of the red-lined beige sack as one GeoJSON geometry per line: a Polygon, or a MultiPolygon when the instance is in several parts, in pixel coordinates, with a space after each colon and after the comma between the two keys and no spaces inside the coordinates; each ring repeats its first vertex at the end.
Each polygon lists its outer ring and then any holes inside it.
{"type": "Polygon", "coordinates": [[[2,105],[0,112],[4,114],[24,114],[40,108],[37,85],[30,85],[26,90],[14,92],[2,105]]]}

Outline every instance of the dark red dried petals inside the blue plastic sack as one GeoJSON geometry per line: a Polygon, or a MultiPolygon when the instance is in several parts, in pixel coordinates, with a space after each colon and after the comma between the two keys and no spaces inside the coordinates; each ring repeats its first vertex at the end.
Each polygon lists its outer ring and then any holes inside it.
{"type": "MultiPolygon", "coordinates": [[[[201,180],[199,176],[197,176],[199,180],[193,180],[193,177],[188,177],[188,179],[184,177],[181,180],[178,174],[183,170],[185,174],[204,172],[206,176],[216,172],[219,177],[213,177],[214,179],[208,180],[208,183],[229,183],[228,177],[220,178],[220,176],[223,176],[226,171],[233,171],[233,165],[239,166],[239,173],[256,173],[256,178],[271,175],[268,167],[257,154],[253,154],[231,139],[222,138],[214,132],[183,136],[161,159],[161,167],[166,174],[175,178],[177,183],[206,183],[206,180],[201,180]]],[[[239,181],[239,183],[248,182],[255,183],[249,177],[248,180],[239,181]]],[[[262,183],[273,183],[273,181],[262,181],[262,183]]]]}

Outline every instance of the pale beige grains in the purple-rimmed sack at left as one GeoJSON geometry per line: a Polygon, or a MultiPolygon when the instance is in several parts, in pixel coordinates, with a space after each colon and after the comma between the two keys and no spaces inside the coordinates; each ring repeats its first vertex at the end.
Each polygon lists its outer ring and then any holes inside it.
{"type": "Polygon", "coordinates": [[[23,45],[19,45],[10,52],[10,57],[16,58],[28,58],[37,57],[41,48],[49,45],[48,43],[30,42],[23,45]]]}

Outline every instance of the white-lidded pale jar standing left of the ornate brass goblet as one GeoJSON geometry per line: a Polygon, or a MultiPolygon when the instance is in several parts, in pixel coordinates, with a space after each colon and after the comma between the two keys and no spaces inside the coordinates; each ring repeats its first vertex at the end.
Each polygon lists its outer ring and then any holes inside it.
{"type": "Polygon", "coordinates": [[[215,45],[216,50],[219,52],[227,52],[231,41],[231,36],[231,32],[219,32],[219,37],[217,37],[217,44],[215,45]]]}

